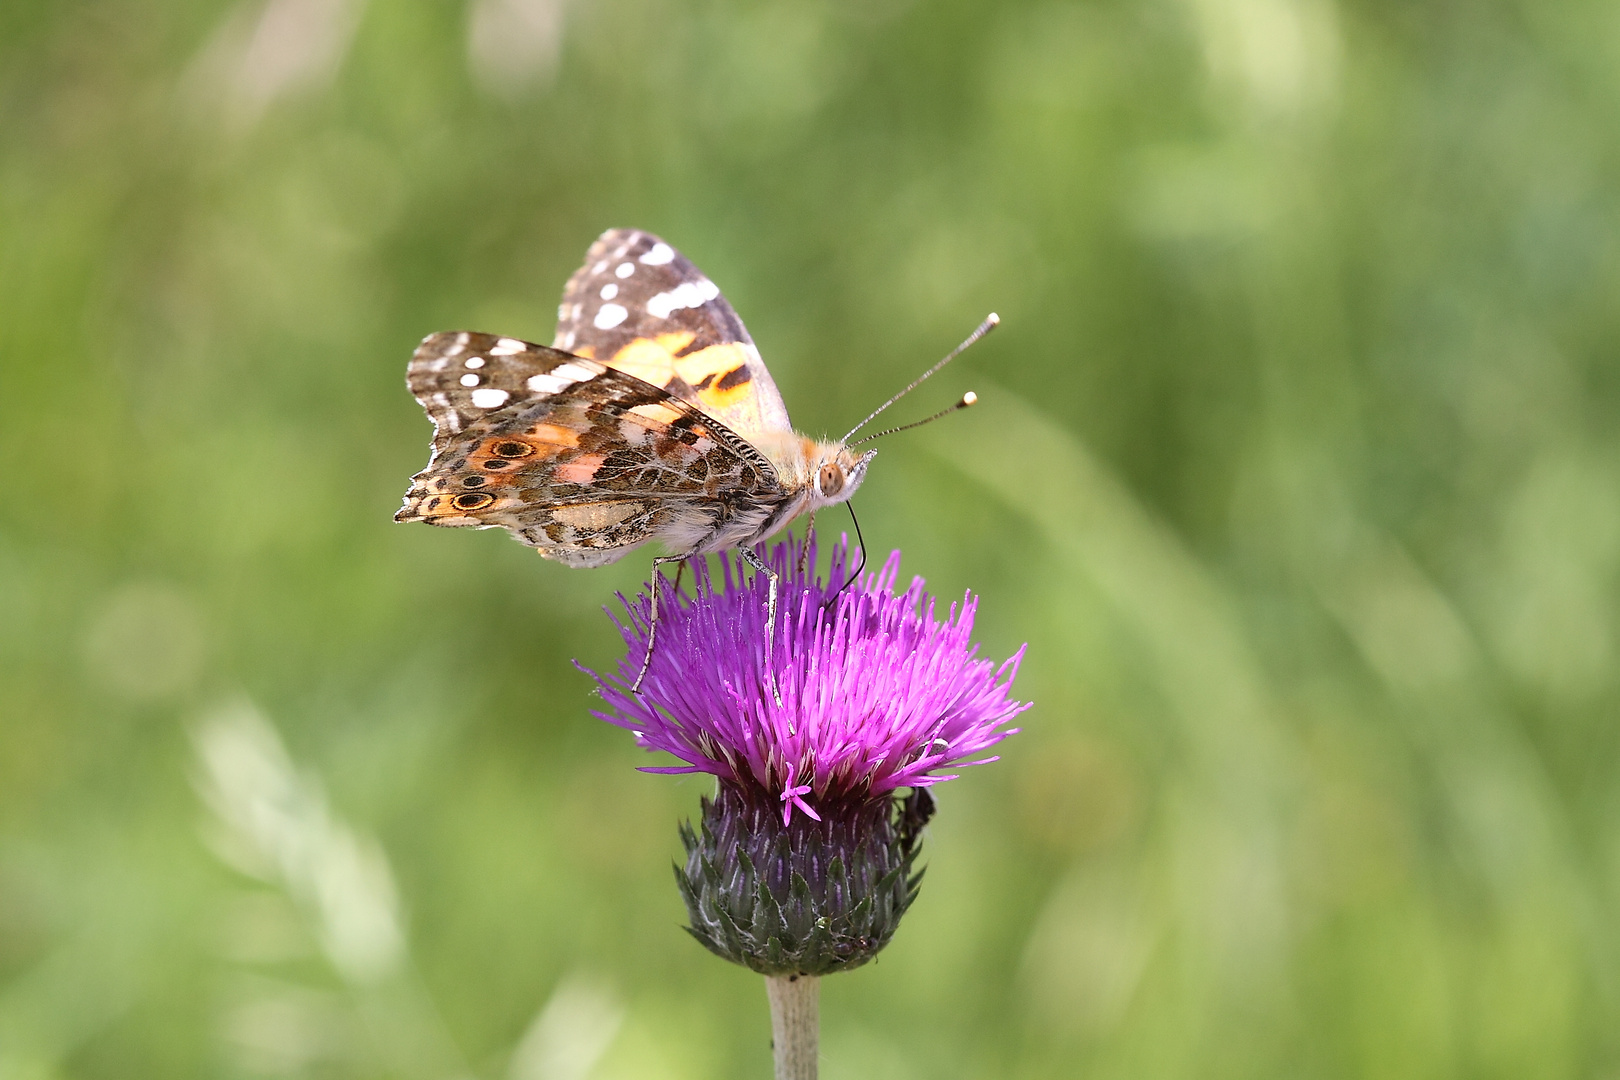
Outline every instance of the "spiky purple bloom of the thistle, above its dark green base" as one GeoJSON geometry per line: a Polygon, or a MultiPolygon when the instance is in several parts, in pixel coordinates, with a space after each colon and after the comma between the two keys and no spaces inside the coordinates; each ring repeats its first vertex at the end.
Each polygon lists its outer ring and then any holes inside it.
{"type": "MultiPolygon", "coordinates": [[[[588,672],[608,703],[596,716],[687,763],[643,771],[713,772],[750,800],[781,803],[786,824],[795,806],[820,821],[816,806],[878,800],[956,779],[944,769],[995,761],[978,755],[1016,733],[1008,724],[1029,708],[1008,696],[1024,649],[1000,667],[978,657],[977,597],[969,593],[938,620],[922,578],[894,593],[899,552],[834,597],[836,586],[800,570],[799,555],[792,541],[768,555],[781,575],[773,649],[781,704],[765,667],[765,575],[742,575],[721,555],[724,588],[697,560],[693,596],[661,589],[640,695],[630,683],[646,651],[651,597],[619,597],[629,620],[614,622],[629,651],[617,675],[588,672]]],[[[813,542],[805,562],[815,565],[813,542]]],[[[842,583],[847,563],[844,541],[829,580],[842,583]]]]}

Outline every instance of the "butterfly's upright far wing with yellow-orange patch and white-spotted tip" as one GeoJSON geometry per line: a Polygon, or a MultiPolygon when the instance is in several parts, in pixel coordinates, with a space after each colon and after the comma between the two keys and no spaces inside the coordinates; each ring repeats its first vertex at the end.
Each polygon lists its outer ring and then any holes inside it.
{"type": "Polygon", "coordinates": [[[744,439],[792,427],[742,319],[651,233],[612,228],[591,244],[562,291],[552,345],[663,387],[744,439]]]}

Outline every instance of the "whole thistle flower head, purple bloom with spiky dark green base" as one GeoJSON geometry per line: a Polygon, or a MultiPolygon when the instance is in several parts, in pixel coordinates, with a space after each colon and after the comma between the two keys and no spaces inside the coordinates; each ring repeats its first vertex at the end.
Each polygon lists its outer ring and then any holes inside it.
{"type": "Polygon", "coordinates": [[[700,829],[682,829],[690,933],[765,975],[825,975],[894,934],[917,894],[927,789],[995,761],[983,751],[1016,732],[1008,724],[1029,706],[1008,693],[1024,651],[1000,665],[978,656],[972,594],[941,620],[922,578],[896,593],[899,552],[841,591],[829,581],[847,576],[847,542],[828,581],[804,568],[813,546],[782,542],[766,560],[779,575],[774,648],[765,575],[721,555],[714,581],[697,562],[692,596],[661,589],[640,693],[651,597],[620,597],[629,649],[616,675],[591,672],[608,704],[596,716],[685,763],[646,772],[719,779],[700,829]]]}

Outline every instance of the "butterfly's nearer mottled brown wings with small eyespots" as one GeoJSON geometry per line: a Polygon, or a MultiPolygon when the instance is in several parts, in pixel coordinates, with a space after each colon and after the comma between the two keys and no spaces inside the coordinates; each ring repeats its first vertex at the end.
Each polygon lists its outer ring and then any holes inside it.
{"type": "Polygon", "coordinates": [[[434,334],[407,384],[436,432],[397,521],[501,526],[593,567],[648,539],[711,531],[740,497],[781,497],[770,461],[724,424],[561,350],[434,334]]]}

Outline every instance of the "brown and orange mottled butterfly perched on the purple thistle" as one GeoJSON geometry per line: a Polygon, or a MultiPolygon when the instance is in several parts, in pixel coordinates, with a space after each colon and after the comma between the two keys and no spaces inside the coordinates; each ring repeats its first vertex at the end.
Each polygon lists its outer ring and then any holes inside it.
{"type": "MultiPolygon", "coordinates": [[[[993,324],[995,316],[946,361],[993,324]]],[[[855,450],[849,439],[888,406],[844,439],[794,431],[719,288],[667,243],[632,228],[591,244],[562,291],[549,347],[431,334],[405,381],[434,437],[395,521],[501,526],[570,567],[663,544],[666,554],[653,559],[654,622],[632,690],[651,662],[663,565],[735,549],[770,578],[774,631],[778,578],[753,546],[855,494],[876,450],[855,450]]],[[[972,395],[953,408],[962,403],[972,395]]]]}

